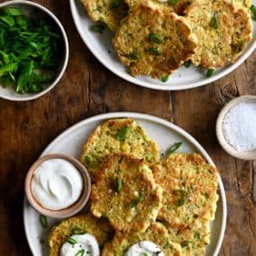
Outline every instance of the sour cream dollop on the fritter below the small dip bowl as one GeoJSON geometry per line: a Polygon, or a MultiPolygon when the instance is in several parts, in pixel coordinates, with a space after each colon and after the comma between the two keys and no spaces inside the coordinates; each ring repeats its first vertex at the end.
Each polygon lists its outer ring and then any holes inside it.
{"type": "Polygon", "coordinates": [[[71,238],[76,243],[63,243],[60,256],[100,256],[100,247],[93,234],[74,234],[71,238]]]}

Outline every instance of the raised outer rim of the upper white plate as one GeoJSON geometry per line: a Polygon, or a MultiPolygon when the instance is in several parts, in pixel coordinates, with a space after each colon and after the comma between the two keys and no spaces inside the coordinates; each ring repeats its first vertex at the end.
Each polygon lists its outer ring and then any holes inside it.
{"type": "MultiPolygon", "coordinates": [[[[193,82],[189,85],[187,85],[187,84],[176,84],[176,85],[175,84],[170,84],[170,85],[152,84],[152,83],[149,83],[149,82],[146,82],[146,81],[139,80],[136,77],[133,77],[129,74],[125,74],[125,75],[120,74],[120,72],[115,69],[115,66],[108,65],[107,60],[102,58],[100,53],[96,52],[93,49],[93,43],[91,43],[89,40],[86,40],[86,37],[84,36],[84,34],[82,32],[82,28],[80,28],[80,26],[79,26],[79,22],[78,22],[79,15],[75,11],[75,8],[76,8],[75,1],[77,1],[77,0],[69,0],[71,14],[72,14],[72,17],[73,17],[73,21],[75,23],[75,29],[78,32],[80,38],[84,41],[85,46],[91,51],[93,56],[96,57],[98,59],[98,61],[100,61],[100,63],[103,66],[108,68],[110,70],[110,72],[112,72],[114,75],[119,76],[119,78],[122,78],[122,79],[124,79],[125,81],[127,81],[129,83],[136,84],[136,85],[139,85],[139,86],[143,86],[143,87],[146,87],[146,88],[150,88],[150,89],[153,89],[153,90],[157,90],[157,91],[181,91],[181,90],[192,89],[192,88],[196,88],[196,87],[199,87],[199,86],[203,86],[203,85],[206,85],[206,84],[213,83],[213,82],[219,80],[220,78],[224,77],[225,75],[228,75],[231,72],[233,72],[234,69],[236,69],[238,66],[241,66],[243,64],[243,62],[252,54],[254,49],[256,49],[256,40],[254,40],[254,42],[252,42],[252,45],[249,47],[249,49],[247,49],[245,52],[243,52],[243,54],[240,57],[238,57],[233,64],[228,66],[220,74],[214,75],[212,77],[208,77],[208,78],[206,78],[204,80],[201,80],[199,82],[193,82]],[[172,86],[174,86],[174,87],[172,87],[172,86]]],[[[253,28],[254,28],[254,26],[253,26],[253,22],[252,22],[252,32],[253,32],[253,28]]],[[[252,40],[253,40],[253,38],[252,38],[252,40]]]]}

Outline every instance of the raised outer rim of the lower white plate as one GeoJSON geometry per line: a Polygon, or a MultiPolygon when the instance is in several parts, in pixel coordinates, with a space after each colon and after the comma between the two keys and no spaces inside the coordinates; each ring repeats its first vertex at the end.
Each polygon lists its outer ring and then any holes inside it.
{"type": "MultiPolygon", "coordinates": [[[[42,153],[40,154],[40,156],[44,155],[44,154],[48,154],[48,151],[50,150],[50,148],[56,144],[58,142],[58,140],[61,140],[62,137],[66,137],[68,136],[70,133],[73,132],[74,129],[76,128],[80,128],[83,127],[84,125],[86,125],[87,123],[92,123],[95,121],[101,121],[102,119],[114,119],[114,118],[132,118],[132,119],[145,119],[148,121],[153,121],[154,123],[163,125],[164,127],[170,128],[172,130],[174,130],[175,132],[177,132],[178,134],[180,134],[182,137],[185,137],[193,146],[195,146],[200,154],[202,154],[208,163],[212,164],[213,166],[216,166],[215,163],[213,162],[213,160],[211,159],[211,157],[209,156],[209,154],[207,154],[207,151],[205,150],[205,148],[203,146],[201,146],[199,144],[199,142],[192,137],[187,131],[185,131],[184,129],[178,127],[177,125],[173,124],[171,121],[168,121],[166,119],[162,119],[162,118],[158,118],[156,116],[152,116],[152,115],[148,115],[148,114],[144,114],[144,113],[138,113],[138,112],[130,112],[130,111],[118,111],[118,112],[110,112],[110,113],[102,113],[99,115],[95,115],[93,117],[87,118],[87,119],[83,119],[77,123],[75,123],[73,126],[66,128],[63,132],[61,132],[57,137],[55,137],[48,146],[45,147],[45,149],[42,151],[42,153]]],[[[221,176],[218,173],[218,187],[219,187],[219,195],[220,198],[222,200],[222,221],[221,221],[221,228],[220,228],[220,234],[216,243],[216,248],[214,251],[213,256],[217,256],[218,252],[220,251],[221,245],[223,243],[223,239],[224,239],[224,234],[225,234],[225,226],[226,226],[226,199],[225,199],[225,188],[223,185],[223,181],[221,179],[221,176]]],[[[32,239],[30,239],[30,233],[28,230],[28,216],[26,216],[26,210],[27,207],[26,205],[28,204],[28,201],[26,199],[26,197],[24,196],[23,199],[23,209],[22,209],[22,214],[23,214],[23,226],[24,226],[24,231],[25,231],[25,235],[26,235],[26,239],[27,242],[29,243],[30,249],[31,249],[31,253],[33,255],[35,254],[35,249],[33,247],[32,244],[32,239]]]]}

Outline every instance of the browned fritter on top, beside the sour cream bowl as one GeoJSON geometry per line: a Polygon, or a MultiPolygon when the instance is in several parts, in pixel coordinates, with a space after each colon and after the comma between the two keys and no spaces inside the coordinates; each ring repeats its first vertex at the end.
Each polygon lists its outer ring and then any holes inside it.
{"type": "Polygon", "coordinates": [[[162,207],[162,189],[143,159],[114,154],[95,175],[91,211],[106,216],[117,231],[145,231],[162,207]]]}

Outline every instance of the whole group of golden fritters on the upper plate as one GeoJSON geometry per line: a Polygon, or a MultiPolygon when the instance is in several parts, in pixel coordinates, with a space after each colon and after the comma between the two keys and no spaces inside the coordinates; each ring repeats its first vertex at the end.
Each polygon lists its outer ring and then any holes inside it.
{"type": "Polygon", "coordinates": [[[115,31],[131,75],[171,75],[184,61],[215,69],[252,40],[251,0],[81,0],[93,21],[115,31]]]}

